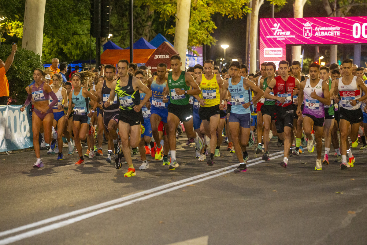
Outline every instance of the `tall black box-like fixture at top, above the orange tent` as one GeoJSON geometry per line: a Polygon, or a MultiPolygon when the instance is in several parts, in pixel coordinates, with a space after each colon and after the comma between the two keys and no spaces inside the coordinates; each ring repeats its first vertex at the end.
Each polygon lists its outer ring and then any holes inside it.
{"type": "Polygon", "coordinates": [[[91,0],[92,37],[108,37],[110,29],[110,1],[91,0]]]}

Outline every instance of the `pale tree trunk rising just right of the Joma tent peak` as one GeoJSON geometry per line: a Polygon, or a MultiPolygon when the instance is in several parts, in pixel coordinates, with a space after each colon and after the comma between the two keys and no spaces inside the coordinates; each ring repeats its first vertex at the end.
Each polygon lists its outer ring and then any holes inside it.
{"type": "Polygon", "coordinates": [[[189,38],[191,0],[177,0],[177,18],[174,48],[181,57],[181,70],[186,69],[186,49],[189,38]]]}

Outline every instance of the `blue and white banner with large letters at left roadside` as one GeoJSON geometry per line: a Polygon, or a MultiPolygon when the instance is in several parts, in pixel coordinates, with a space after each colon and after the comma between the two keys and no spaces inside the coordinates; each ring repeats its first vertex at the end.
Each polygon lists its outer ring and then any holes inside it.
{"type": "Polygon", "coordinates": [[[0,105],[0,152],[33,147],[30,105],[0,105]]]}

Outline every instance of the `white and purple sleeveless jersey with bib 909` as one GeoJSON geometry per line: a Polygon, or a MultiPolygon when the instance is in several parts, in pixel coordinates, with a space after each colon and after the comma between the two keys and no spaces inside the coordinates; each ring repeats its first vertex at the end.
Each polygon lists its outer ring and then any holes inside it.
{"type": "Polygon", "coordinates": [[[309,114],[315,116],[315,118],[323,118],[325,117],[324,104],[320,101],[311,98],[311,93],[315,91],[317,96],[324,98],[324,93],[322,91],[322,82],[320,79],[315,87],[311,87],[310,79],[306,80],[306,85],[304,88],[304,102],[305,108],[302,111],[302,114],[309,114]]]}

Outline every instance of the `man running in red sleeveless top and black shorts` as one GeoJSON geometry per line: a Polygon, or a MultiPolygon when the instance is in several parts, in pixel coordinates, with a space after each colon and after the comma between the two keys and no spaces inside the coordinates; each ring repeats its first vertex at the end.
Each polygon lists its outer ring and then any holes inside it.
{"type": "Polygon", "coordinates": [[[270,81],[265,90],[265,99],[275,100],[275,126],[279,138],[284,140],[284,158],[280,163],[282,167],[287,167],[291,139],[294,137],[293,128],[293,90],[299,89],[299,80],[288,76],[289,63],[282,60],[279,62],[279,76],[270,81]],[[273,90],[274,95],[270,95],[273,90]]]}

